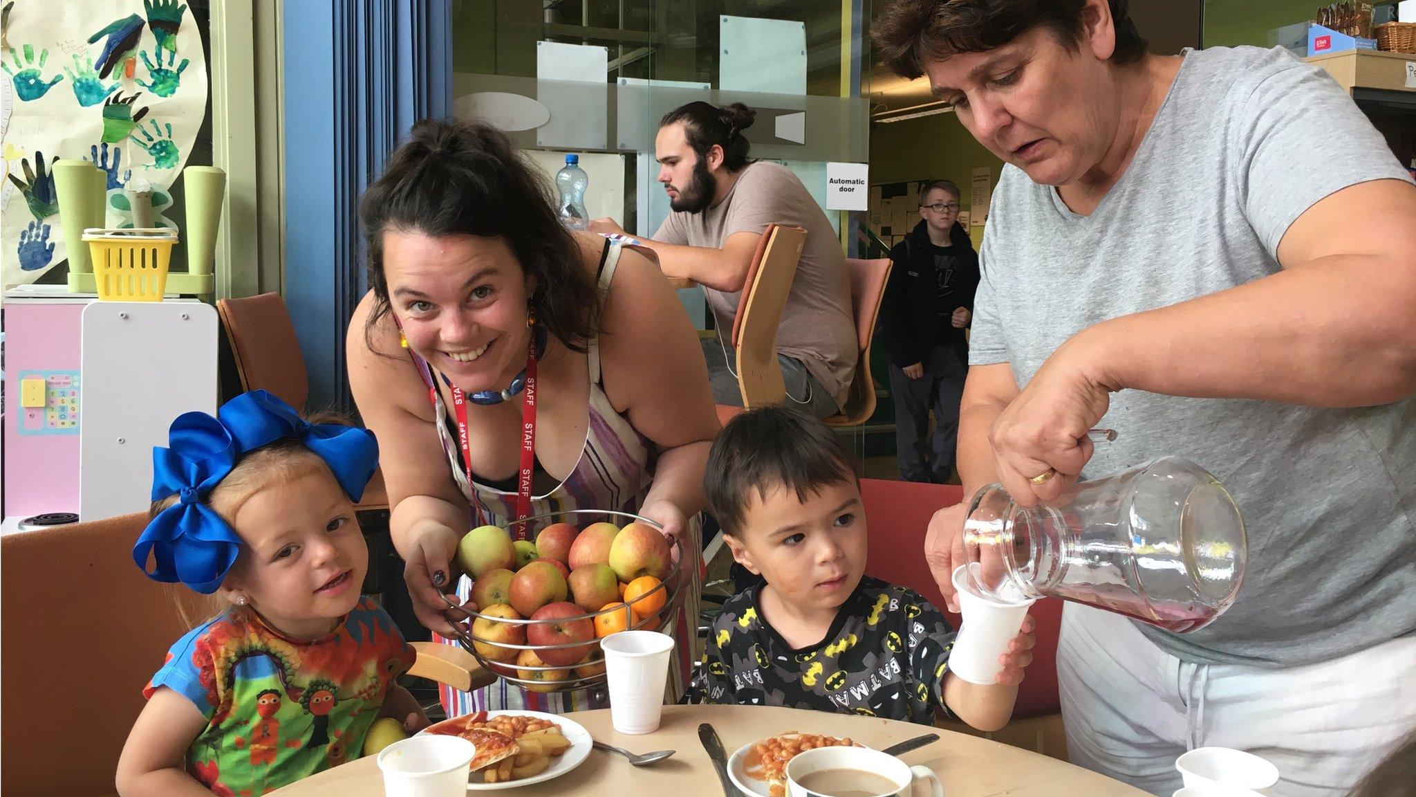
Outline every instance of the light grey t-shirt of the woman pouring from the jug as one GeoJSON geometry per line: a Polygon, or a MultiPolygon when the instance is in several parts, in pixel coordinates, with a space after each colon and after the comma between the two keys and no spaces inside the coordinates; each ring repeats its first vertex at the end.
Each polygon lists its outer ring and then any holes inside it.
{"type": "MultiPolygon", "coordinates": [[[[1281,48],[1187,51],[1090,216],[1003,169],[969,362],[1010,363],[1027,386],[1090,325],[1277,272],[1298,216],[1379,179],[1410,177],[1321,69],[1281,48]]],[[[1167,652],[1287,667],[1416,632],[1416,400],[1318,408],[1123,390],[1100,425],[1120,437],[1083,478],[1175,454],[1215,474],[1245,518],[1247,573],[1229,611],[1185,635],[1141,625],[1167,652]]]]}

